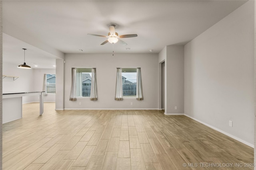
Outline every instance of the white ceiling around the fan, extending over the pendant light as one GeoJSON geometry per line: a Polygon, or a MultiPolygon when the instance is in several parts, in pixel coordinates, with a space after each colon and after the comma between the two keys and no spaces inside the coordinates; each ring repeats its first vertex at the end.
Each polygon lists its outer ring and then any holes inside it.
{"type": "Polygon", "coordinates": [[[6,0],[3,1],[3,23],[6,25],[3,25],[3,32],[10,36],[4,34],[3,37],[4,61],[19,60],[18,64],[22,64],[22,48],[27,48],[27,64],[52,68],[55,63],[56,57],[33,47],[34,44],[22,42],[25,39],[15,39],[15,33],[29,35],[30,39],[63,53],[112,53],[112,44],[100,45],[106,38],[87,35],[107,35],[110,24],[116,25],[119,35],[138,34],[138,37],[122,39],[127,46],[114,44],[115,53],[150,53],[150,49],[154,50],[152,53],[159,53],[166,45],[185,45],[245,2],[6,0]],[[126,50],[127,47],[131,50],[126,50]]]}

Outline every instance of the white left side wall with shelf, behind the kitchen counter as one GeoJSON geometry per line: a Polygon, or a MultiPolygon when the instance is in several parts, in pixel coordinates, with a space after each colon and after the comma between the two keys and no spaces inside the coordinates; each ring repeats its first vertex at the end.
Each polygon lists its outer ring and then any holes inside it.
{"type": "MultiPolygon", "coordinates": [[[[8,92],[33,92],[34,91],[34,69],[21,69],[17,65],[3,63],[3,75],[18,76],[17,80],[12,77],[6,77],[2,81],[3,93],[8,92]]],[[[25,96],[22,103],[33,102],[33,96],[25,96]]]]}

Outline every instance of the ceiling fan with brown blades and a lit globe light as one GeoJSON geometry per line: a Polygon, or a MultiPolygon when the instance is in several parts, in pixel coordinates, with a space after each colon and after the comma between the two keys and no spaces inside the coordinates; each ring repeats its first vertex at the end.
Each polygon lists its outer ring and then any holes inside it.
{"type": "Polygon", "coordinates": [[[122,41],[120,38],[131,38],[131,37],[138,37],[137,34],[126,34],[126,35],[118,35],[118,33],[115,31],[115,27],[116,25],[112,24],[109,25],[109,33],[108,36],[105,35],[96,35],[96,34],[88,34],[88,35],[93,35],[93,36],[98,36],[98,37],[106,37],[108,38],[106,41],[104,41],[103,43],[101,43],[100,45],[104,45],[108,42],[115,44],[118,41],[120,43],[122,43],[122,45],[127,45],[126,42],[122,41]]]}

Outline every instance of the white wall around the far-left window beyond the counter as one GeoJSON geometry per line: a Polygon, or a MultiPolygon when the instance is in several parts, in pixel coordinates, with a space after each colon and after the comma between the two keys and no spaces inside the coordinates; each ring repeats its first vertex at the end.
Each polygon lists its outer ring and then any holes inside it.
{"type": "MultiPolygon", "coordinates": [[[[55,69],[34,69],[34,91],[42,91],[44,74],[55,74],[55,72],[55,69]]],[[[39,102],[39,96],[34,96],[34,101],[39,102]]],[[[55,102],[55,94],[44,96],[44,102],[55,102]]]]}

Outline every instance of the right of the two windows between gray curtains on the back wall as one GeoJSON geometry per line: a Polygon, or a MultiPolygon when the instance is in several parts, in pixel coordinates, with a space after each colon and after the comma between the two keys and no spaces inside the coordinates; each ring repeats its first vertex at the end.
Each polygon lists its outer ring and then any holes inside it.
{"type": "Polygon", "coordinates": [[[123,97],[136,97],[136,81],[136,68],[122,68],[123,97]]]}

